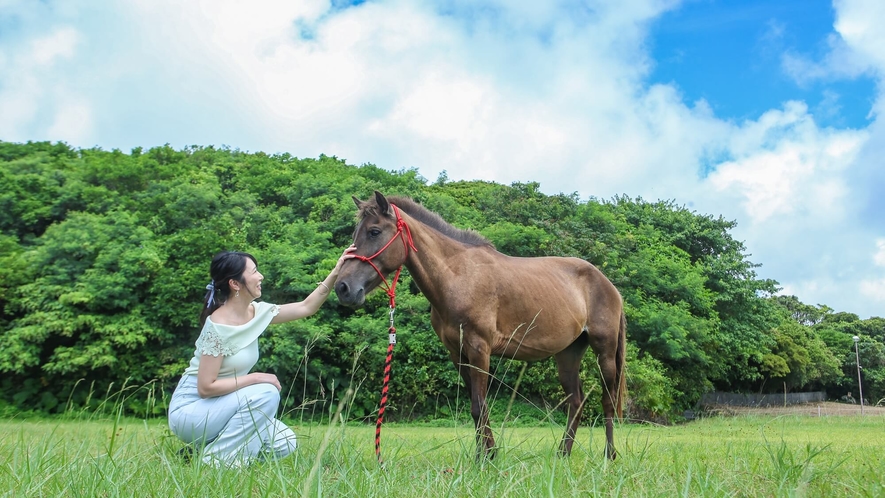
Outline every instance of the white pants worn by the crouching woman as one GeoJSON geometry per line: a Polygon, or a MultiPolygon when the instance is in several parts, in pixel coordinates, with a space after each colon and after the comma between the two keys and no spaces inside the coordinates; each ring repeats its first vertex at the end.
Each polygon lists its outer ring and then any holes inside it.
{"type": "Polygon", "coordinates": [[[275,418],[279,405],[280,392],[271,384],[201,398],[197,376],[185,375],[169,402],[169,429],[202,450],[203,461],[211,465],[282,458],[295,450],[295,433],[275,418]]]}

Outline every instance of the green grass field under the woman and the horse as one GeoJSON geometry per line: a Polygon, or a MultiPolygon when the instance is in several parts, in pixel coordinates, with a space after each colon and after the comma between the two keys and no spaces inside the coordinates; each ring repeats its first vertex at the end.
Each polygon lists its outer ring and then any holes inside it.
{"type": "MultiPolygon", "coordinates": [[[[454,423],[449,425],[455,425],[454,423]]],[[[165,419],[0,420],[5,496],[885,496],[885,417],[713,417],[621,425],[620,456],[582,427],[571,458],[555,425],[495,431],[473,459],[470,425],[299,426],[296,454],[240,470],[185,463],[165,419]]]]}

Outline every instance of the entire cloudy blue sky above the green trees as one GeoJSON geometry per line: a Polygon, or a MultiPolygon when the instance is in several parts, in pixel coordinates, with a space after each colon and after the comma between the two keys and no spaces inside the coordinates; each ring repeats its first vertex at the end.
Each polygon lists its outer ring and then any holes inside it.
{"type": "Polygon", "coordinates": [[[0,140],[672,199],[885,316],[885,2],[0,0],[0,140]]]}

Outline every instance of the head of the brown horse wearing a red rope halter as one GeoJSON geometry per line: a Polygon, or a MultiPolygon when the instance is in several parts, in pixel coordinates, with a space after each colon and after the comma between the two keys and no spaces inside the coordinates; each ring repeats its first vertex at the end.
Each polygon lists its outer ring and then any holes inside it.
{"type": "Polygon", "coordinates": [[[353,232],[356,257],[342,265],[335,293],[341,304],[357,307],[365,303],[366,294],[386,283],[387,275],[405,263],[411,242],[408,228],[398,223],[397,209],[380,192],[375,191],[374,199],[354,197],[353,202],[359,209],[353,232]]]}

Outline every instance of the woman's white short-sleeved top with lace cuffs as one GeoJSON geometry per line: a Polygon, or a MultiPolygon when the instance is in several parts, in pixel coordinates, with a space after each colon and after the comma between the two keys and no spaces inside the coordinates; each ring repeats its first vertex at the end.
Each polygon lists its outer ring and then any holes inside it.
{"type": "Polygon", "coordinates": [[[197,375],[200,357],[222,355],[218,378],[240,377],[249,373],[258,362],[258,336],[264,333],[273,317],[280,312],[276,304],[253,302],[255,316],[243,325],[224,325],[206,318],[197,338],[194,357],[184,375],[197,375]]]}

